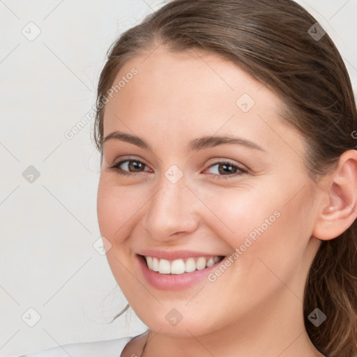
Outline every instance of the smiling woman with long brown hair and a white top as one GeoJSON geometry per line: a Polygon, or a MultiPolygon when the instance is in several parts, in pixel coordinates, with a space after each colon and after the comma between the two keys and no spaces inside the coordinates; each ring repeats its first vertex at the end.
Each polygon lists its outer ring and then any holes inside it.
{"type": "Polygon", "coordinates": [[[357,356],[356,102],[306,10],[167,3],[114,43],[97,107],[100,232],[149,329],[67,353],[357,356]]]}

